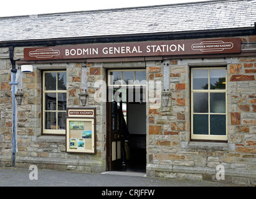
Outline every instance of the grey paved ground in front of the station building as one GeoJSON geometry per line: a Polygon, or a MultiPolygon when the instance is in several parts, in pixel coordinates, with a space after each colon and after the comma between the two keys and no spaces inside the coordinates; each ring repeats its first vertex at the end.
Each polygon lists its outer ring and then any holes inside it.
{"type": "Polygon", "coordinates": [[[0,187],[239,187],[220,182],[146,177],[144,173],[105,172],[85,174],[71,171],[38,170],[38,179],[30,180],[32,171],[0,167],[0,187]]]}

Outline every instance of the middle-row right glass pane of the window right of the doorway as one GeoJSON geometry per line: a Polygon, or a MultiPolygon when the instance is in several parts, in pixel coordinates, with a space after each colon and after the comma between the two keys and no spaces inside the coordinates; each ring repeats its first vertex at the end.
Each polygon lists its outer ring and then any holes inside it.
{"type": "Polygon", "coordinates": [[[225,93],[210,93],[211,113],[225,113],[225,93]]]}

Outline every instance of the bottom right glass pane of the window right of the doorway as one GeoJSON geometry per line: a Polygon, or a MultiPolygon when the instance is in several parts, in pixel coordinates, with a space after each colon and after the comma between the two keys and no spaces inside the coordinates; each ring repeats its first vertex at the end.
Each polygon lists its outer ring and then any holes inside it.
{"type": "Polygon", "coordinates": [[[225,115],[212,114],[210,116],[210,134],[225,136],[225,115]]]}

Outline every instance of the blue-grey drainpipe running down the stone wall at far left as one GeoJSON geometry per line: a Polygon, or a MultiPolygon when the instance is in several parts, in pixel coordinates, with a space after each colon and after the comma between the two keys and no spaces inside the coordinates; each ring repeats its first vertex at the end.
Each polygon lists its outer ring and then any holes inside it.
{"type": "Polygon", "coordinates": [[[15,101],[15,85],[18,83],[15,81],[16,80],[16,65],[15,61],[13,60],[14,58],[14,47],[9,47],[9,57],[11,60],[12,64],[12,78],[11,82],[9,82],[9,85],[12,85],[12,167],[15,166],[15,152],[16,152],[16,101],[15,101]]]}

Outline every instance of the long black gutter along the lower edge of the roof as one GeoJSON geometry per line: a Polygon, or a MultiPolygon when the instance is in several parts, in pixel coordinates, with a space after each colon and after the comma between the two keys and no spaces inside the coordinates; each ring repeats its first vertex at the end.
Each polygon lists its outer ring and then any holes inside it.
{"type": "Polygon", "coordinates": [[[0,47],[26,46],[54,46],[72,44],[96,44],[96,43],[115,43],[115,42],[143,42],[150,40],[178,40],[178,39],[201,39],[212,37],[238,37],[243,35],[255,35],[255,27],[240,29],[219,29],[219,30],[198,30],[184,32],[159,32],[152,34],[133,34],[133,35],[103,35],[97,37],[67,37],[53,39],[35,40],[11,40],[0,42],[0,47]]]}

